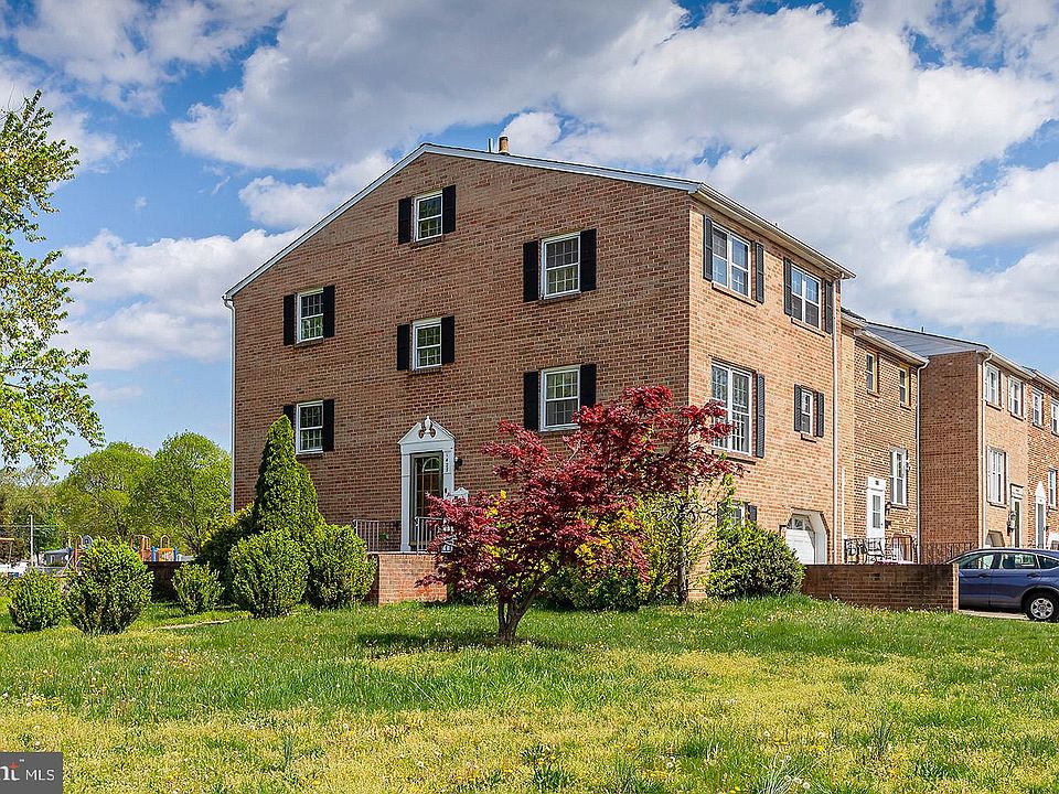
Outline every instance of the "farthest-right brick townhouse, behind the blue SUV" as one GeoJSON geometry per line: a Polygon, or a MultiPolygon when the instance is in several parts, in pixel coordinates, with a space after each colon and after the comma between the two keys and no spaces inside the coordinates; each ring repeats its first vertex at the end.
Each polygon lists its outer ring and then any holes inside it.
{"type": "Polygon", "coordinates": [[[1059,547],[1059,384],[986,345],[875,323],[921,377],[922,552],[1059,547]]]}

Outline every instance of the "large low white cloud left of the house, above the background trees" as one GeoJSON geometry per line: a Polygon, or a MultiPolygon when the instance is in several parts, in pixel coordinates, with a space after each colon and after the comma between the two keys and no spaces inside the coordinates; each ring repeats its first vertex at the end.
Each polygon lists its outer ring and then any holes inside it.
{"type": "Polygon", "coordinates": [[[228,354],[224,290],[288,245],[297,232],[242,237],[164,238],[126,243],[104,229],[89,243],[67,248],[64,261],[95,279],[78,287],[77,314],[67,322],[69,346],[92,352],[93,369],[131,369],[141,364],[228,354]]]}

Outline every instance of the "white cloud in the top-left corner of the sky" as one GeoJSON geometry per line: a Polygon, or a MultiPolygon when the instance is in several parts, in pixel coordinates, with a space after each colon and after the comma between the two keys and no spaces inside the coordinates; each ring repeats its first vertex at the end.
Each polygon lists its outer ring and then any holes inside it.
{"type": "Polygon", "coordinates": [[[159,89],[184,65],[207,66],[269,24],[278,0],[38,0],[12,25],[19,49],[83,89],[126,109],[157,110],[159,89]]]}

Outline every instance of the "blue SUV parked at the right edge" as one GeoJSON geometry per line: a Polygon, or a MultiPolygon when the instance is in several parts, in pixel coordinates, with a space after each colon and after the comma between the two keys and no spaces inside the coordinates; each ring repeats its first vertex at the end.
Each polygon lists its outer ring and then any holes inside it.
{"type": "Polygon", "coordinates": [[[952,560],[960,609],[1021,610],[1033,621],[1059,619],[1059,551],[984,548],[952,560]]]}

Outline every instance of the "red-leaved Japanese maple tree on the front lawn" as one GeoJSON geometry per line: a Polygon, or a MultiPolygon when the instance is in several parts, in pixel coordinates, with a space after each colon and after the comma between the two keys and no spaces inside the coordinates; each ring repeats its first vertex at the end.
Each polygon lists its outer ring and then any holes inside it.
{"type": "Polygon", "coordinates": [[[644,569],[638,498],[686,491],[735,470],[714,452],[727,436],[716,404],[676,407],[665,386],[625,389],[612,403],[581,408],[577,428],[553,454],[541,437],[510,421],[510,440],[482,451],[507,486],[470,501],[436,500],[442,529],[431,544],[437,572],[424,583],[494,596],[498,639],[514,640],[518,621],[564,566],[607,566],[623,557],[644,569]]]}

